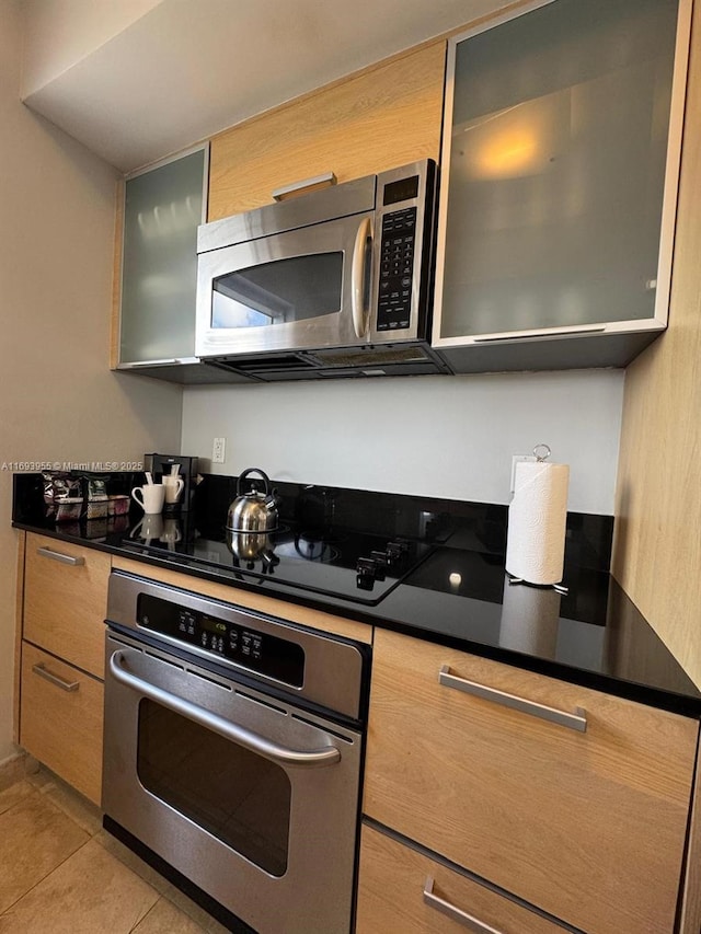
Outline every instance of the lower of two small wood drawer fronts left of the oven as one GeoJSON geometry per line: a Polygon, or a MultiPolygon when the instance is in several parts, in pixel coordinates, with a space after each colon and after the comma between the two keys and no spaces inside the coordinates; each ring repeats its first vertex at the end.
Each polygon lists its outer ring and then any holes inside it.
{"type": "Polygon", "coordinates": [[[103,683],[28,643],[22,644],[20,743],[100,804],[103,683]]]}

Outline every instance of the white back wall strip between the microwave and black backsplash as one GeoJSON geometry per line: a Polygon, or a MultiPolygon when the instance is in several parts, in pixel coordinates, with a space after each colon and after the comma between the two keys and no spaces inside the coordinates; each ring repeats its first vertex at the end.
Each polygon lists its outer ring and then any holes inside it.
{"type": "Polygon", "coordinates": [[[612,515],[622,370],[191,387],[182,453],[212,473],[481,503],[509,500],[512,454],[571,465],[570,509],[612,515]]]}

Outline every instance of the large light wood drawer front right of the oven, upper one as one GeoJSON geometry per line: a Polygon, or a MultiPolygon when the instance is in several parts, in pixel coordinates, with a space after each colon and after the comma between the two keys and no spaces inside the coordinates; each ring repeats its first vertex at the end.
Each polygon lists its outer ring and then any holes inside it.
{"type": "Polygon", "coordinates": [[[671,934],[697,739],[692,719],[378,631],[364,809],[584,931],[671,934]],[[583,708],[586,731],[460,682],[583,708]]]}

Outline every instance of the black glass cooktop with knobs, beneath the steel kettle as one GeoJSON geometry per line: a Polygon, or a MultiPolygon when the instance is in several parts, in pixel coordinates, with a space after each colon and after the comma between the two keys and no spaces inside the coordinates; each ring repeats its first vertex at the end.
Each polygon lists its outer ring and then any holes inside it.
{"type": "Polygon", "coordinates": [[[267,534],[209,531],[202,537],[187,534],[177,519],[168,522],[160,534],[136,526],[120,545],[249,583],[273,580],[368,606],[379,603],[432,551],[425,542],[344,529],[299,531],[284,524],[267,534]]]}

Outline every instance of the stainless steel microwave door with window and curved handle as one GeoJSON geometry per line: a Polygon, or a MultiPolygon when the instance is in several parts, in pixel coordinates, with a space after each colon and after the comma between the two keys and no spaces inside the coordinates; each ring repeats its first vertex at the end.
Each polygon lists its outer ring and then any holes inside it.
{"type": "Polygon", "coordinates": [[[361,344],[372,218],[357,214],[200,253],[197,356],[361,344]]]}

